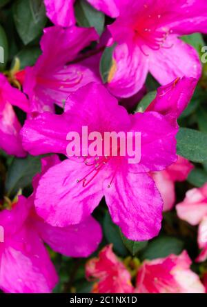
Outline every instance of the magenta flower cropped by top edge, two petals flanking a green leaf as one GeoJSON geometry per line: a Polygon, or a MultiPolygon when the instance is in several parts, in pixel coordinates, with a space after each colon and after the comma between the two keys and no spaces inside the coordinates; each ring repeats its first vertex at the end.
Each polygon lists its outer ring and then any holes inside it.
{"type": "MultiPolygon", "coordinates": [[[[119,5],[123,0],[88,0],[97,10],[110,17],[117,17],[119,5]]],[[[48,18],[57,26],[69,27],[75,25],[75,0],[44,0],[48,18]]]]}

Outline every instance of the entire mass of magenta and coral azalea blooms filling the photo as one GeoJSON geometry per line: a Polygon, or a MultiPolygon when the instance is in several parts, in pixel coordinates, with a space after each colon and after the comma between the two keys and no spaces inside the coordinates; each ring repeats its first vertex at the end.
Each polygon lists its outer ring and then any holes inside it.
{"type": "MultiPolygon", "coordinates": [[[[88,0],[115,19],[102,37],[94,28],[76,25],[75,0],[44,3],[54,26],[43,30],[37,62],[20,72],[22,90],[0,74],[0,148],[16,157],[50,154],[41,159],[32,195],[21,195],[0,211],[5,231],[0,288],[7,293],[49,293],[55,287],[58,276],[44,242],[67,257],[88,257],[97,250],[102,230],[92,212],[103,197],[125,237],[157,236],[163,211],[175,206],[175,182],[186,180],[194,167],[177,156],[177,119],[193,96],[201,63],[197,51],[179,37],[207,33],[207,1],[88,0]],[[92,42],[97,42],[94,53],[86,51],[92,42]],[[103,84],[99,62],[103,49],[114,43],[103,84]],[[128,114],[121,99],[139,95],[148,72],[161,84],[157,96],[144,112],[128,114]],[[23,126],[13,106],[26,112],[23,126]],[[68,157],[68,132],[81,135],[83,126],[102,135],[141,132],[141,161],[68,157]]],[[[207,186],[189,190],[176,210],[180,219],[199,225],[197,261],[205,261],[207,186]]],[[[99,258],[88,261],[86,275],[99,279],[95,293],[204,293],[190,264],[186,251],[145,260],[132,281],[112,246],[106,246],[99,258]]],[[[203,280],[207,285],[206,275],[203,280]]]]}

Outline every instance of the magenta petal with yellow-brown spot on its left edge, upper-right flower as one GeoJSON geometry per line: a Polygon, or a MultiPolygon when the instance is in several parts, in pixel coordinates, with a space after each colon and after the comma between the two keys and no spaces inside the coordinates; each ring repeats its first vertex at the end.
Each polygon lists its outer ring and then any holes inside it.
{"type": "Polygon", "coordinates": [[[123,43],[115,48],[108,76],[108,89],[117,97],[135,95],[144,86],[148,73],[148,57],[138,46],[123,43]]]}

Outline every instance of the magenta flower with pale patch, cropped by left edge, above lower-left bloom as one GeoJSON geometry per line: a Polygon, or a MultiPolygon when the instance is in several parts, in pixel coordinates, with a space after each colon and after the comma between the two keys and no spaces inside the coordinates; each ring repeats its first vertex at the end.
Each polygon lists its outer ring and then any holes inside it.
{"type": "Polygon", "coordinates": [[[6,77],[0,73],[0,148],[8,155],[24,157],[26,152],[21,146],[19,131],[21,125],[12,106],[28,111],[28,100],[20,90],[10,86],[6,77]]]}

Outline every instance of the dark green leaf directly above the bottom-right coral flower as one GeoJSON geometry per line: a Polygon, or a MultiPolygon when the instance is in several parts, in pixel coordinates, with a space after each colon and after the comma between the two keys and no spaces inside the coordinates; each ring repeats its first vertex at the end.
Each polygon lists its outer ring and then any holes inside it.
{"type": "Polygon", "coordinates": [[[179,255],[184,249],[184,242],[175,237],[157,237],[149,242],[148,246],[141,253],[141,259],[164,258],[170,254],[179,255]]]}

